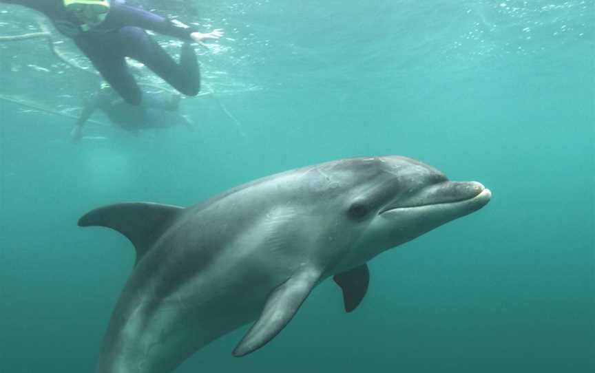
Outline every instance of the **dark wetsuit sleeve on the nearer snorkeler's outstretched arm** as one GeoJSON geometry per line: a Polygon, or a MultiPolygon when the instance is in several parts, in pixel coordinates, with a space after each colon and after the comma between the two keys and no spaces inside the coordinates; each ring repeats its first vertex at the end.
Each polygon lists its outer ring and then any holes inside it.
{"type": "Polygon", "coordinates": [[[112,13],[110,17],[113,17],[121,25],[136,26],[182,40],[191,41],[190,34],[197,31],[177,20],[172,21],[152,12],[121,3],[114,3],[110,12],[112,13]]]}

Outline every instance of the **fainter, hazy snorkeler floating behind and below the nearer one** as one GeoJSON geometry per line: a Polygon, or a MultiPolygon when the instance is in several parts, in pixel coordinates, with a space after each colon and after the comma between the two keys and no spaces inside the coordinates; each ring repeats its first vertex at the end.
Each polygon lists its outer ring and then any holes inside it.
{"type": "Polygon", "coordinates": [[[81,139],[83,125],[96,110],[103,111],[114,125],[127,131],[175,125],[187,125],[192,128],[191,122],[178,112],[179,103],[179,94],[144,92],[143,103],[130,105],[120,98],[109,84],[103,83],[98,92],[86,100],[81,116],[70,132],[70,138],[75,142],[81,139]]]}

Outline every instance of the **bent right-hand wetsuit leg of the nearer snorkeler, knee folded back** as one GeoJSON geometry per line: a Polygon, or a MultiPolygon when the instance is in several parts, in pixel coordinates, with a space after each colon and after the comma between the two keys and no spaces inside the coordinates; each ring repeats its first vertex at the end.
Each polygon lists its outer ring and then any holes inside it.
{"type": "Polygon", "coordinates": [[[119,30],[126,56],[144,63],[180,93],[196,96],[200,91],[200,68],[194,48],[185,43],[176,63],[145,30],[125,27],[119,30]]]}

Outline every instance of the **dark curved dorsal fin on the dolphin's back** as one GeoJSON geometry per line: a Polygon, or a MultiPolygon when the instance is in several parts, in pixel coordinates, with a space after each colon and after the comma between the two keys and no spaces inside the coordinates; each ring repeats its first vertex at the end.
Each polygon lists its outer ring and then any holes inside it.
{"type": "Polygon", "coordinates": [[[184,209],[149,202],[110,204],[79,219],[79,226],[105,226],[125,235],[136,248],[136,263],[184,209]]]}

